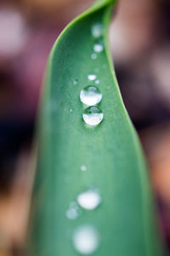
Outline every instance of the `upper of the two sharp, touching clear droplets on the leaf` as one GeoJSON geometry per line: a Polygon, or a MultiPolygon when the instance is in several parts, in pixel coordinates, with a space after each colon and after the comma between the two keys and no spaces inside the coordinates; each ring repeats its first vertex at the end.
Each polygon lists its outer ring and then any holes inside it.
{"type": "Polygon", "coordinates": [[[93,106],[101,102],[102,93],[101,91],[93,85],[88,85],[80,92],[80,100],[82,103],[93,106]]]}

